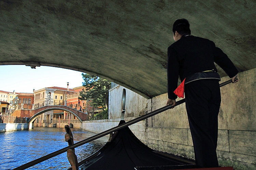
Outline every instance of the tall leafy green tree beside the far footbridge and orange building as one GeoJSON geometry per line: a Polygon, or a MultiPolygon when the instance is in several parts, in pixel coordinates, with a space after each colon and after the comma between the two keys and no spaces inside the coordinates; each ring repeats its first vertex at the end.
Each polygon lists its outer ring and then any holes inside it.
{"type": "Polygon", "coordinates": [[[109,106],[109,89],[111,82],[95,75],[82,73],[85,90],[80,92],[80,100],[90,100],[94,108],[102,107],[103,110],[109,106]]]}

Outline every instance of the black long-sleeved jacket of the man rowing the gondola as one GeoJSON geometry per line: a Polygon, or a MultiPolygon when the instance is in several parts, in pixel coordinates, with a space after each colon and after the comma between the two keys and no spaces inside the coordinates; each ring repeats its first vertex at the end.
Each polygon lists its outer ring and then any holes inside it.
{"type": "Polygon", "coordinates": [[[181,39],[168,47],[168,98],[177,98],[173,91],[177,88],[179,76],[182,82],[186,77],[198,72],[217,71],[214,62],[230,78],[238,73],[228,56],[221,49],[215,47],[213,41],[193,35],[183,35],[181,39]]]}

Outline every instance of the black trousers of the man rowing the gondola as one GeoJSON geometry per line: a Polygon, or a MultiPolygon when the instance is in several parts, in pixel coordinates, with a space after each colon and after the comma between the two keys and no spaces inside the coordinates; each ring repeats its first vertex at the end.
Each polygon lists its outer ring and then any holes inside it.
{"type": "Polygon", "coordinates": [[[216,154],[221,92],[217,80],[197,80],[185,85],[185,101],[196,165],[218,167],[216,154]]]}

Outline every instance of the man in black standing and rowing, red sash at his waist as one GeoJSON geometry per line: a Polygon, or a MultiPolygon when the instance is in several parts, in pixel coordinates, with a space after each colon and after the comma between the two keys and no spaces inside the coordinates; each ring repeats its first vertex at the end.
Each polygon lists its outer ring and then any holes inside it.
{"type": "Polygon", "coordinates": [[[177,95],[185,102],[197,166],[218,167],[216,155],[218,113],[221,104],[220,77],[214,62],[234,81],[238,70],[213,41],[190,35],[189,22],[173,24],[173,43],[168,48],[168,101],[175,105],[177,95]],[[177,88],[178,78],[182,82],[177,88]],[[175,92],[174,92],[175,91],[175,92]]]}

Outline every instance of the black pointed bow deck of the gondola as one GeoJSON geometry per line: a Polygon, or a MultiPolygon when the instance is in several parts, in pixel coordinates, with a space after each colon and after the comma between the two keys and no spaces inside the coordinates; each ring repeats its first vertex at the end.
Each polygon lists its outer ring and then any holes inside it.
{"type": "MultiPolygon", "coordinates": [[[[125,123],[121,120],[119,124],[125,123]]],[[[134,170],[134,167],[191,165],[193,162],[147,147],[126,127],[90,156],[81,170],[134,170]]]]}

